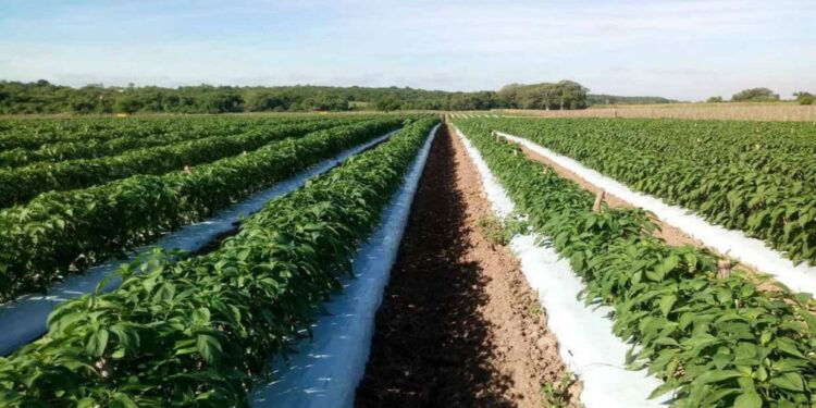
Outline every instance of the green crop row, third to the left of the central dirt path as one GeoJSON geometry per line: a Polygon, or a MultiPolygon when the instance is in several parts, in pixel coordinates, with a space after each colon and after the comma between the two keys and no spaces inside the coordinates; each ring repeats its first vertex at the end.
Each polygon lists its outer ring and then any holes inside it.
{"type": "Polygon", "coordinates": [[[269,122],[233,136],[210,136],[97,159],[0,169],[0,207],[24,203],[45,191],[85,188],[137,174],[163,174],[255,150],[269,143],[346,124],[345,120],[296,124],[269,122]]]}

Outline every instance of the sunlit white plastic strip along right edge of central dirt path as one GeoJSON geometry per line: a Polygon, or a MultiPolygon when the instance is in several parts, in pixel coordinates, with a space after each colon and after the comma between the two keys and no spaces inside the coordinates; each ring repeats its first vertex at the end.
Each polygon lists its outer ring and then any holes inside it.
{"type": "MultiPolygon", "coordinates": [[[[479,150],[456,131],[482,176],[487,199],[498,217],[507,217],[515,203],[493,176],[479,150]]],[[[517,235],[510,242],[521,261],[521,270],[547,313],[547,326],[559,343],[559,354],[567,368],[583,382],[581,403],[588,408],[667,407],[668,397],[647,399],[662,384],[645,371],[625,368],[631,345],[613,334],[607,318],[611,308],[585,306],[578,299],[583,283],[567,260],[549,247],[535,244],[536,235],[517,235]]]]}

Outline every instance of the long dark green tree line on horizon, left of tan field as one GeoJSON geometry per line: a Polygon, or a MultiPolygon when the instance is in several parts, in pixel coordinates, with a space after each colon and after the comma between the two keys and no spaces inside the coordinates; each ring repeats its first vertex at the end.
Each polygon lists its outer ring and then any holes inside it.
{"type": "Polygon", "coordinates": [[[572,81],[511,84],[498,91],[329,86],[157,86],[81,88],[0,81],[0,113],[227,113],[351,110],[583,109],[589,89],[572,81]]]}

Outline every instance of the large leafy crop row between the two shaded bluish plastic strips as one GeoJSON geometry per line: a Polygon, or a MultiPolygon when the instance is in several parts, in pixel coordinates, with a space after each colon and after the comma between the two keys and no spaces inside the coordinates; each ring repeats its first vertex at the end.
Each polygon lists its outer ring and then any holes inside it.
{"type": "Polygon", "coordinates": [[[157,255],[113,293],[62,305],[45,338],[0,360],[0,405],[245,406],[268,357],[341,288],[434,122],[270,201],[213,252],[157,255]]]}

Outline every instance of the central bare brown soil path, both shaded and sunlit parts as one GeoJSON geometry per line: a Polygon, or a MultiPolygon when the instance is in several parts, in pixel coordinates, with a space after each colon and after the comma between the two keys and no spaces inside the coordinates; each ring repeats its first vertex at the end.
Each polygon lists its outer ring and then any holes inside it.
{"type": "MultiPolygon", "coordinates": [[[[443,127],[392,269],[357,407],[542,407],[565,368],[546,317],[490,217],[479,174],[443,127]]],[[[565,399],[577,401],[579,384],[565,399]]]]}

